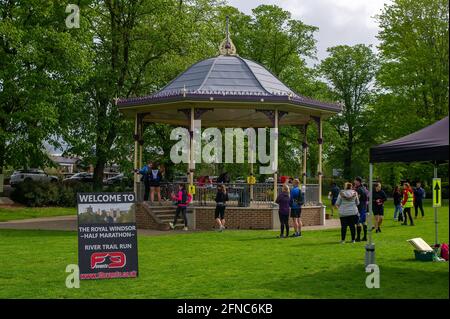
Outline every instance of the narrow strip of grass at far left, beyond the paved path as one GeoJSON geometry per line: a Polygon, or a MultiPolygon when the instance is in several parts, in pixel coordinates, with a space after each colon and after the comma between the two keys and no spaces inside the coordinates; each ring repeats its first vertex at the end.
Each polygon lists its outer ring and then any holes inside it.
{"type": "Polygon", "coordinates": [[[67,207],[0,207],[0,222],[38,217],[75,215],[76,208],[67,207]]]}

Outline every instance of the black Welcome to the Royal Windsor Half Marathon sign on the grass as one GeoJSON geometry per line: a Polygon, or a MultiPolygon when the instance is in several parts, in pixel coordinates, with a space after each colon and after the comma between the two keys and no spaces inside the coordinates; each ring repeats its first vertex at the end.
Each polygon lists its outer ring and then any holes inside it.
{"type": "Polygon", "coordinates": [[[134,193],[78,193],[80,279],[138,276],[134,193]]]}

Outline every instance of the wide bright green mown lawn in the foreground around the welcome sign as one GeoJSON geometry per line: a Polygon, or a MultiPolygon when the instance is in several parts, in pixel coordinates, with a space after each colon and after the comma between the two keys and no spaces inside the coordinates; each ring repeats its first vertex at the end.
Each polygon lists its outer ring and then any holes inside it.
{"type": "MultiPolygon", "coordinates": [[[[365,286],[364,243],[338,244],[339,230],[277,239],[274,231],[139,237],[139,277],[65,287],[77,263],[75,232],[0,230],[0,298],[449,298],[448,263],[414,260],[406,242],[434,242],[433,211],[416,226],[392,221],[375,234],[381,288],[365,286]]],[[[439,238],[448,242],[448,202],[439,238]]]]}

